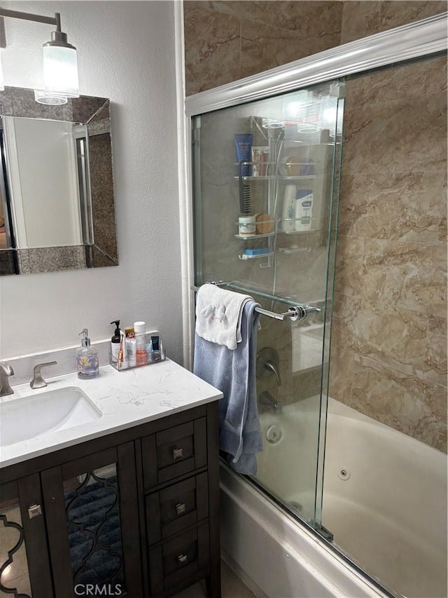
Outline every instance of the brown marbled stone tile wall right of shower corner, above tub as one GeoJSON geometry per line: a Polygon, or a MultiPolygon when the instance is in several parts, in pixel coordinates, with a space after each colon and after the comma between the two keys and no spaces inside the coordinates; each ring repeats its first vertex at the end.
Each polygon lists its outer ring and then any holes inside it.
{"type": "MultiPolygon", "coordinates": [[[[342,43],[430,3],[374,4],[344,4],[342,43]]],[[[330,393],[446,451],[446,59],[350,81],[343,153],[330,393]]]]}

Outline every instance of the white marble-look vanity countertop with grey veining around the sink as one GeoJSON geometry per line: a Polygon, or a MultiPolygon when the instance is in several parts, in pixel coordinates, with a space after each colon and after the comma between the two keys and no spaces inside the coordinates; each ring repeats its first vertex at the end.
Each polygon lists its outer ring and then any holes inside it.
{"type": "MultiPolygon", "coordinates": [[[[38,390],[32,390],[29,383],[20,384],[13,386],[13,395],[1,397],[0,405],[23,397],[35,397],[38,414],[39,395],[49,390],[76,386],[90,398],[102,416],[81,426],[0,447],[0,468],[223,397],[220,390],[169,359],[123,372],[106,365],[100,367],[99,372],[99,376],[92,380],[81,380],[76,372],[48,378],[48,386],[38,390]]],[[[29,415],[33,416],[32,413],[29,415]]]]}

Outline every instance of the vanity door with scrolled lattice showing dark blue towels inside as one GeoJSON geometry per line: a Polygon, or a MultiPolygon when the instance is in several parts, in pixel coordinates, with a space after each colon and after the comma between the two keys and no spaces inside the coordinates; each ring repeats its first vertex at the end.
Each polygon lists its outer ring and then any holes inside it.
{"type": "Polygon", "coordinates": [[[135,472],[127,442],[41,473],[57,598],[143,595],[135,472]]]}

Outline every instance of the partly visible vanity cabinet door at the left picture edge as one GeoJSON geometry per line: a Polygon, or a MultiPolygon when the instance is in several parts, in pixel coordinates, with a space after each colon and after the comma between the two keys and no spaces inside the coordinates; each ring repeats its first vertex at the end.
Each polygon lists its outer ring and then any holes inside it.
{"type": "Polygon", "coordinates": [[[38,474],[0,485],[0,596],[53,595],[38,474]]]}

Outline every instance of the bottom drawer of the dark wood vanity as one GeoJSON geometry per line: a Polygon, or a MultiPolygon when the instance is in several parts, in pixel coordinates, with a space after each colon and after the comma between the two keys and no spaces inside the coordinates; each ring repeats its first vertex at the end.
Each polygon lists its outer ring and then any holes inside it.
{"type": "Polygon", "coordinates": [[[209,524],[149,551],[151,592],[160,594],[209,564],[209,524]]]}

